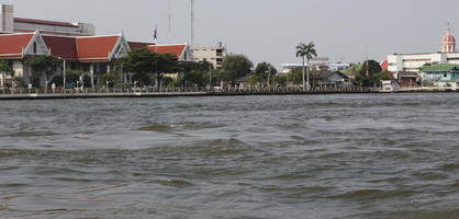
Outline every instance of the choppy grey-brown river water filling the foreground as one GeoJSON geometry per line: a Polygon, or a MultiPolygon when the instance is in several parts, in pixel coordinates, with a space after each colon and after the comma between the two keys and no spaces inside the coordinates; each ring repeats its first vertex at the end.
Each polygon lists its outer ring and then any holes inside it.
{"type": "Polygon", "coordinates": [[[459,218],[455,93],[0,112],[0,218],[459,218]]]}

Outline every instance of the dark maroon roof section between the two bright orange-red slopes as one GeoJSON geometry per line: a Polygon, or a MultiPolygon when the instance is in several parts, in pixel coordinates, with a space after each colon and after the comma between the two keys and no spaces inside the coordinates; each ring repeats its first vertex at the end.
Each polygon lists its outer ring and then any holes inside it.
{"type": "Polygon", "coordinates": [[[43,39],[54,57],[78,58],[75,37],[43,36],[43,39]]]}

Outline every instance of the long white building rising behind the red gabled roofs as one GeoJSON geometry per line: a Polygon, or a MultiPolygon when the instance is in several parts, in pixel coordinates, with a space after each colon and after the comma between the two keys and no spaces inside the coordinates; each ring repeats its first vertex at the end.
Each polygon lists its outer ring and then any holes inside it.
{"type": "Polygon", "coordinates": [[[13,5],[0,4],[0,33],[33,33],[35,31],[40,31],[42,34],[66,36],[96,35],[96,26],[90,23],[14,18],[13,5]]]}

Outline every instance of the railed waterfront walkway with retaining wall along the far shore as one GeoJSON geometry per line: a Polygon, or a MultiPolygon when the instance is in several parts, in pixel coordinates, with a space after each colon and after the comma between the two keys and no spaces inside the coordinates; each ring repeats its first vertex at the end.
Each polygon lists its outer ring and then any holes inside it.
{"type": "MultiPolygon", "coordinates": [[[[457,92],[450,88],[408,88],[396,92],[457,92]]],[[[100,99],[100,97],[173,97],[173,96],[233,96],[233,95],[304,95],[304,94],[357,94],[379,93],[369,88],[321,88],[303,91],[301,88],[269,88],[269,89],[224,89],[208,90],[192,89],[85,89],[45,92],[38,89],[2,90],[0,101],[5,100],[52,100],[52,99],[100,99]]]]}

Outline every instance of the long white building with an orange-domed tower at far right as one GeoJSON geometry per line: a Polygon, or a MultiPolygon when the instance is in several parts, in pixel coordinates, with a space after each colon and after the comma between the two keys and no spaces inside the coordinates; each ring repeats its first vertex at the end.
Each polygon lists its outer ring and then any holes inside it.
{"type": "Polygon", "coordinates": [[[459,64],[459,53],[456,53],[456,39],[448,26],[441,41],[441,51],[425,54],[393,54],[388,56],[388,70],[391,72],[419,72],[425,64],[459,64]]]}

